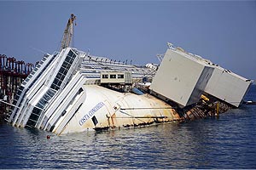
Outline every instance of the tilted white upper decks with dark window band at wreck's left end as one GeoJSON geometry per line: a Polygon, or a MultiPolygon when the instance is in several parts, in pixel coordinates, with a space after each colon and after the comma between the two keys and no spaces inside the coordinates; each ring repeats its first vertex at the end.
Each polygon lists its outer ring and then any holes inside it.
{"type": "Polygon", "coordinates": [[[66,87],[76,73],[83,54],[72,48],[60,54],[45,54],[32,73],[22,82],[9,117],[9,122],[20,127],[38,127],[38,122],[50,102],[66,87]]]}

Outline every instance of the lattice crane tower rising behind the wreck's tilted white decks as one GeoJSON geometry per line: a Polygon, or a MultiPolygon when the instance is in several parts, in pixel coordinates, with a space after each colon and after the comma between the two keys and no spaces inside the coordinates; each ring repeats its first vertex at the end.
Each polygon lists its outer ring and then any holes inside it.
{"type": "Polygon", "coordinates": [[[72,41],[72,37],[73,37],[73,21],[74,20],[76,20],[76,16],[74,14],[71,14],[70,18],[67,20],[67,26],[61,40],[60,51],[70,46],[70,42],[72,41]]]}

